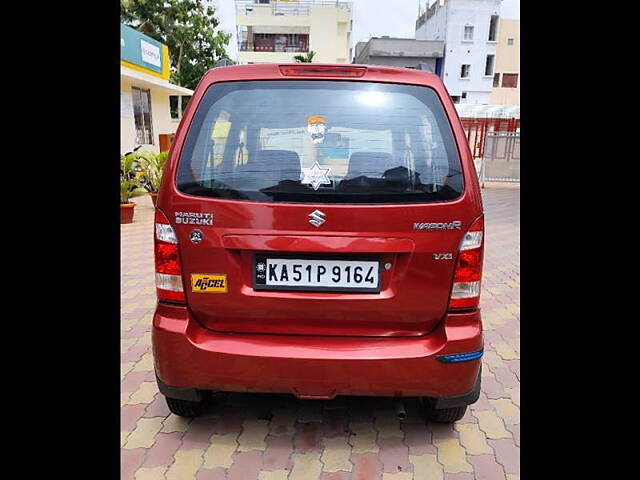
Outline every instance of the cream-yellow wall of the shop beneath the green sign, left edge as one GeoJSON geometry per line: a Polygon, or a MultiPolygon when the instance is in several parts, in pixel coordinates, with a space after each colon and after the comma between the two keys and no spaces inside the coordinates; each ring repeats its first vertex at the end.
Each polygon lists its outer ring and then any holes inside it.
{"type": "MultiPolygon", "coordinates": [[[[145,145],[143,149],[159,151],[161,133],[175,133],[178,126],[177,120],[171,119],[169,109],[169,92],[162,88],[149,87],[147,85],[136,85],[135,80],[120,77],[120,90],[131,93],[131,87],[151,91],[151,122],[153,126],[153,145],[145,145]]],[[[131,151],[137,146],[135,121],[133,118],[120,117],[120,151],[121,153],[131,151]]]]}

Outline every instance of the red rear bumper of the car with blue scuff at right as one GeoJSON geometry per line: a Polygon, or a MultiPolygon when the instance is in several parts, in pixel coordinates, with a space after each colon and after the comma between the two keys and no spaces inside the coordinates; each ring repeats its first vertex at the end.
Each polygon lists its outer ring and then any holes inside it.
{"type": "Polygon", "coordinates": [[[480,359],[437,359],[482,349],[479,311],[448,314],[422,337],[319,337],[213,332],[188,308],[159,304],[152,340],[160,391],[186,400],[202,390],[424,396],[446,408],[473,403],[480,389],[480,359]]]}

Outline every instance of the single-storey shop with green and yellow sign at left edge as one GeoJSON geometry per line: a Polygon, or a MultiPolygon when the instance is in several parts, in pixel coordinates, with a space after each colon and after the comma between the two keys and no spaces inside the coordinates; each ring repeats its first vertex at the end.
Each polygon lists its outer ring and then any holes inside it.
{"type": "Polygon", "coordinates": [[[120,153],[138,145],[156,152],[168,149],[180,120],[171,104],[186,105],[192,94],[169,82],[166,45],[120,25],[120,153]]]}

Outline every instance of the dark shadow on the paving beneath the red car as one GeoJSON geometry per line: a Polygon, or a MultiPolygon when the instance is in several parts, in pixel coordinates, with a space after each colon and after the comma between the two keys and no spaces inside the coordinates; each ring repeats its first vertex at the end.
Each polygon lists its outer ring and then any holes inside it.
{"type": "Polygon", "coordinates": [[[352,443],[359,433],[405,439],[409,447],[430,444],[432,433],[441,439],[457,436],[453,425],[425,422],[420,399],[405,398],[403,406],[406,417],[401,420],[394,400],[386,397],[305,400],[286,394],[214,393],[206,410],[190,421],[185,441],[201,435],[208,444],[211,435],[242,435],[254,429],[269,436],[291,435],[294,450],[307,451],[321,446],[325,438],[346,436],[352,443]]]}

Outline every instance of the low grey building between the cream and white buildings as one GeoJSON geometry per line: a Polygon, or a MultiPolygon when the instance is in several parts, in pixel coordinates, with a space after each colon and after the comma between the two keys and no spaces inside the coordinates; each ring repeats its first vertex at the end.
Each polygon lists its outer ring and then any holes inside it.
{"type": "Polygon", "coordinates": [[[356,44],[354,63],[426,69],[440,75],[443,40],[373,37],[356,44]]]}

